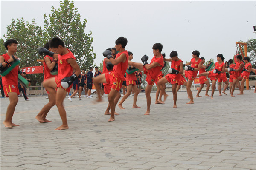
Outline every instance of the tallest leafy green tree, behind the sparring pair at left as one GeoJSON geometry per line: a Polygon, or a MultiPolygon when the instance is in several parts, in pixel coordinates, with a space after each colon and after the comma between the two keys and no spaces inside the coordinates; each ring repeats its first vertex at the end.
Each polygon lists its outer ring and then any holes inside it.
{"type": "Polygon", "coordinates": [[[44,28],[48,39],[60,37],[65,46],[76,57],[81,68],[94,67],[93,60],[96,54],[93,52],[92,32],[84,33],[87,20],[81,22],[81,15],[75,8],[74,2],[69,0],[60,1],[60,8],[52,6],[52,14],[44,14],[44,28]]]}

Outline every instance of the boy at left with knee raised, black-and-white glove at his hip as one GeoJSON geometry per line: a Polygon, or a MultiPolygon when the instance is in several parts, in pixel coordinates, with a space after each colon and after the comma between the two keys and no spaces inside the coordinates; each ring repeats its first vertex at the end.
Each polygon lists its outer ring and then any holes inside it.
{"type": "MultiPolygon", "coordinates": [[[[81,74],[81,70],[76,62],[76,58],[69,49],[65,48],[64,42],[60,38],[52,38],[49,43],[49,47],[52,48],[52,50],[56,53],[51,54],[51,56],[58,58],[58,77],[47,79],[44,82],[44,87],[47,88],[50,94],[56,96],[56,106],[61,116],[62,125],[55,130],[64,130],[68,129],[69,127],[67,125],[67,114],[63,101],[67,92],[72,88],[73,81],[81,74]],[[74,74],[72,74],[73,69],[76,70],[74,74]],[[55,88],[57,88],[57,91],[55,91],[55,88]]],[[[49,55],[48,50],[42,53],[48,53],[49,55]]]]}

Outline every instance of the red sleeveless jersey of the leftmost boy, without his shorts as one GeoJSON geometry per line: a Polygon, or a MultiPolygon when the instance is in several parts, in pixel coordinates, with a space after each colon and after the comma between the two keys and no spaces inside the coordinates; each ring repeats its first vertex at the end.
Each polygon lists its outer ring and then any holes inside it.
{"type": "MultiPolygon", "coordinates": [[[[2,56],[4,58],[4,61],[7,61],[8,59],[10,59],[10,56],[7,53],[3,54],[2,56]]],[[[3,85],[18,85],[18,70],[19,70],[19,66],[17,65],[6,76],[3,76],[2,77],[3,85]]]]}

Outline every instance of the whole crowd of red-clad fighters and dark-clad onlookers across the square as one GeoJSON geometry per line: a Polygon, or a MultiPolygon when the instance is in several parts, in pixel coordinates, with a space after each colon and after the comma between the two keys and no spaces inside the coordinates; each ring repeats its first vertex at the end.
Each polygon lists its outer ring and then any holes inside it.
{"type": "MultiPolygon", "coordinates": [[[[87,96],[87,98],[92,98],[91,90],[93,83],[97,91],[97,97],[94,102],[101,102],[104,93],[107,94],[108,106],[106,108],[105,114],[111,115],[108,121],[112,122],[115,120],[115,115],[118,115],[118,113],[116,113],[116,105],[121,97],[119,91],[122,86],[126,86],[127,93],[124,94],[121,101],[118,103],[119,108],[124,109],[122,104],[131,93],[134,94],[134,102],[132,108],[140,108],[140,106],[137,106],[137,96],[140,94],[139,89],[141,89],[140,84],[142,72],[146,74],[147,82],[145,88],[147,109],[144,115],[150,114],[150,94],[154,84],[157,85],[155,104],[163,104],[166,102],[168,94],[165,92],[165,84],[169,82],[172,84],[174,102],[173,108],[177,108],[177,91],[180,89],[180,85],[186,85],[187,95],[189,98],[189,102],[186,104],[194,103],[191,85],[196,77],[199,77],[199,82],[201,85],[198,89],[196,97],[201,97],[199,94],[204,87],[204,84],[206,84],[207,88],[205,96],[214,99],[213,94],[215,92],[215,85],[217,81],[219,82],[219,95],[222,95],[221,82],[225,83],[224,89],[222,91],[222,93],[225,95],[227,95],[225,91],[229,82],[232,82],[230,86],[230,96],[234,97],[235,87],[237,82],[239,82],[239,79],[242,78],[241,90],[239,93],[239,95],[242,95],[244,91],[245,80],[249,78],[251,71],[255,72],[255,69],[252,69],[251,67],[249,57],[244,57],[242,60],[241,55],[236,55],[237,62],[235,65],[233,65],[232,60],[229,60],[229,62],[224,62],[225,58],[222,54],[218,54],[216,56],[217,62],[215,63],[215,68],[211,71],[206,71],[206,69],[209,67],[209,64],[204,66],[205,59],[203,57],[199,58],[199,51],[192,51],[191,61],[184,64],[183,61],[178,57],[177,51],[172,51],[169,55],[170,58],[166,58],[165,54],[162,53],[163,45],[161,43],[155,43],[153,45],[152,50],[154,57],[151,59],[149,64],[149,57],[147,55],[144,55],[141,58],[142,63],[133,62],[131,61],[133,59],[133,53],[131,51],[125,50],[127,43],[128,40],[125,37],[119,37],[115,41],[115,48],[108,48],[106,51],[104,51],[103,56],[105,59],[103,61],[103,71],[101,72],[98,70],[98,67],[95,67],[94,75],[92,73],[92,67],[90,67],[88,71],[83,69],[81,74],[81,70],[78,63],[76,62],[76,58],[72,52],[65,47],[64,42],[58,37],[52,38],[52,40],[47,42],[44,47],[38,48],[39,54],[45,54],[43,85],[44,88],[46,88],[49,102],[44,105],[44,107],[36,116],[36,119],[40,123],[51,122],[46,119],[46,116],[50,109],[56,105],[62,120],[62,125],[57,127],[55,130],[68,129],[69,127],[67,124],[67,115],[63,101],[66,94],[70,92],[72,86],[74,93],[68,98],[70,101],[72,101],[72,97],[76,93],[79,94],[79,100],[82,100],[81,91],[83,89],[86,91],[85,96],[87,96]],[[165,67],[165,62],[171,62],[171,67],[169,68],[168,74],[163,76],[161,70],[165,67]],[[56,68],[57,65],[58,74],[51,74],[52,69],[56,68]],[[127,70],[129,70],[129,74],[126,74],[128,73],[127,70]],[[136,70],[138,71],[136,72],[136,70]],[[226,72],[230,73],[229,82],[226,77],[226,72]],[[186,77],[188,80],[186,81],[184,77],[186,77]],[[211,96],[208,95],[210,83],[207,77],[209,77],[212,81],[211,96]],[[137,86],[139,86],[139,88],[137,88],[137,86]]],[[[17,56],[14,55],[15,52],[17,52],[17,44],[18,42],[14,39],[10,39],[5,42],[4,45],[8,52],[1,55],[1,70],[2,68],[9,67],[9,63],[13,62],[14,59],[17,59],[17,56]]],[[[13,126],[19,126],[12,123],[12,116],[15,111],[15,106],[18,102],[19,90],[17,76],[19,70],[20,68],[16,66],[12,69],[12,71],[9,72],[9,74],[3,77],[3,90],[5,95],[9,97],[10,100],[10,104],[6,111],[6,119],[3,123],[6,127],[9,128],[12,128],[13,126]]]]}

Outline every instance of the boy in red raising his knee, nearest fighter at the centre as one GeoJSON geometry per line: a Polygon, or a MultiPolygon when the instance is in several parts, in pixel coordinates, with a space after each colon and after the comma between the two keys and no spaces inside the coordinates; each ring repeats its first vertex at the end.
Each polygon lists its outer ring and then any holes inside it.
{"type": "Polygon", "coordinates": [[[95,88],[98,93],[97,102],[102,101],[102,97],[99,94],[99,83],[111,84],[111,91],[108,94],[108,103],[111,109],[111,116],[110,119],[108,119],[109,122],[115,120],[116,104],[114,102],[114,99],[116,96],[121,97],[119,90],[122,87],[122,82],[125,81],[124,75],[128,66],[129,57],[127,50],[125,50],[125,46],[127,45],[127,39],[125,37],[119,37],[115,43],[116,51],[119,51],[119,53],[116,54],[116,59],[113,59],[111,51],[106,50],[103,52],[103,55],[107,57],[109,61],[114,65],[112,73],[101,74],[97,76],[94,80],[95,88]]]}

